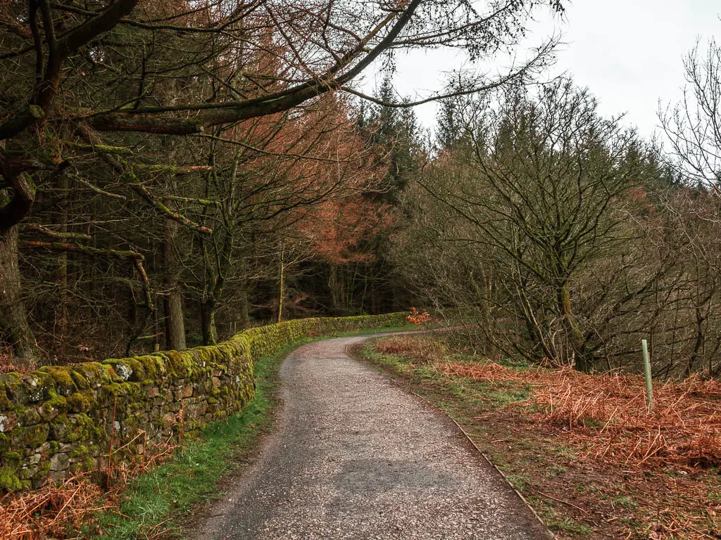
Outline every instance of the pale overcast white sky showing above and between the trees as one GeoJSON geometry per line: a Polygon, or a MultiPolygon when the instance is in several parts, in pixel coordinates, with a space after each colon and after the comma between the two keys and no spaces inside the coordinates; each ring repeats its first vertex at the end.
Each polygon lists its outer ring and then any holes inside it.
{"type": "MultiPolygon", "coordinates": [[[[650,137],[658,125],[659,99],[676,102],[684,85],[683,58],[702,40],[721,42],[718,0],[575,0],[565,19],[537,14],[527,45],[554,32],[565,45],[557,50],[551,75],[570,73],[588,86],[602,114],[626,113],[626,121],[650,137]]],[[[463,63],[448,51],[397,57],[396,86],[401,94],[428,95],[441,86],[443,71],[463,63]]],[[[365,86],[375,86],[376,77],[365,86]]],[[[417,107],[423,125],[432,127],[435,106],[417,107]]]]}

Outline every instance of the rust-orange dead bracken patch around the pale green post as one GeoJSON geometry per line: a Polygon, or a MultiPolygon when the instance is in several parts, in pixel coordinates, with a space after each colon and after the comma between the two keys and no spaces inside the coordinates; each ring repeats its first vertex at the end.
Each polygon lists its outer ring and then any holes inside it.
{"type": "Polygon", "coordinates": [[[586,375],[573,369],[518,371],[492,362],[438,366],[443,374],[485,382],[530,384],[532,418],[568,428],[588,444],[588,459],[642,466],[721,464],[721,382],[690,377],[654,385],[647,410],[643,378],[632,374],[586,375]]]}

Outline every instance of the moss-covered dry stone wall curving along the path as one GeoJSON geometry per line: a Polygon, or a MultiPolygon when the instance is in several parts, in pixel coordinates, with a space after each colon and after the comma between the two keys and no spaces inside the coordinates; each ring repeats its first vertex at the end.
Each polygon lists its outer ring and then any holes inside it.
{"type": "Polygon", "coordinates": [[[310,318],[251,328],[217,346],[30,374],[0,374],[0,492],[139,459],[152,442],[192,434],[255,395],[253,364],[304,336],[401,325],[404,313],[310,318]]]}

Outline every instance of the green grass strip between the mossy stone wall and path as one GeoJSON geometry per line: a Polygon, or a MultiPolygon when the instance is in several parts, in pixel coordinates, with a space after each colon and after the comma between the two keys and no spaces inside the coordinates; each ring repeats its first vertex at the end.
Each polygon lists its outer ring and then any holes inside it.
{"type": "MultiPolygon", "coordinates": [[[[376,328],[337,333],[333,337],[408,329],[376,328]]],[[[322,339],[326,337],[295,341],[273,356],[257,361],[256,395],[242,413],[209,424],[197,440],[188,442],[168,462],[131,480],[123,490],[120,509],[99,516],[102,535],[91,531],[84,534],[102,540],[140,540],[160,532],[182,537],[179,518],[187,516],[198,504],[221,498],[218,481],[247,463],[260,435],[270,430],[280,361],[294,348],[322,339]]]]}

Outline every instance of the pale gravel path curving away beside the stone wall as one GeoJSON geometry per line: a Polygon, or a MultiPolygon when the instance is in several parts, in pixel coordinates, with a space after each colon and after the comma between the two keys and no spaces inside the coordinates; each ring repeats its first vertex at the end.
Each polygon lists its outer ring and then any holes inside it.
{"type": "Polygon", "coordinates": [[[275,433],[195,538],[552,538],[451,420],[345,354],[366,339],[283,361],[275,433]]]}

